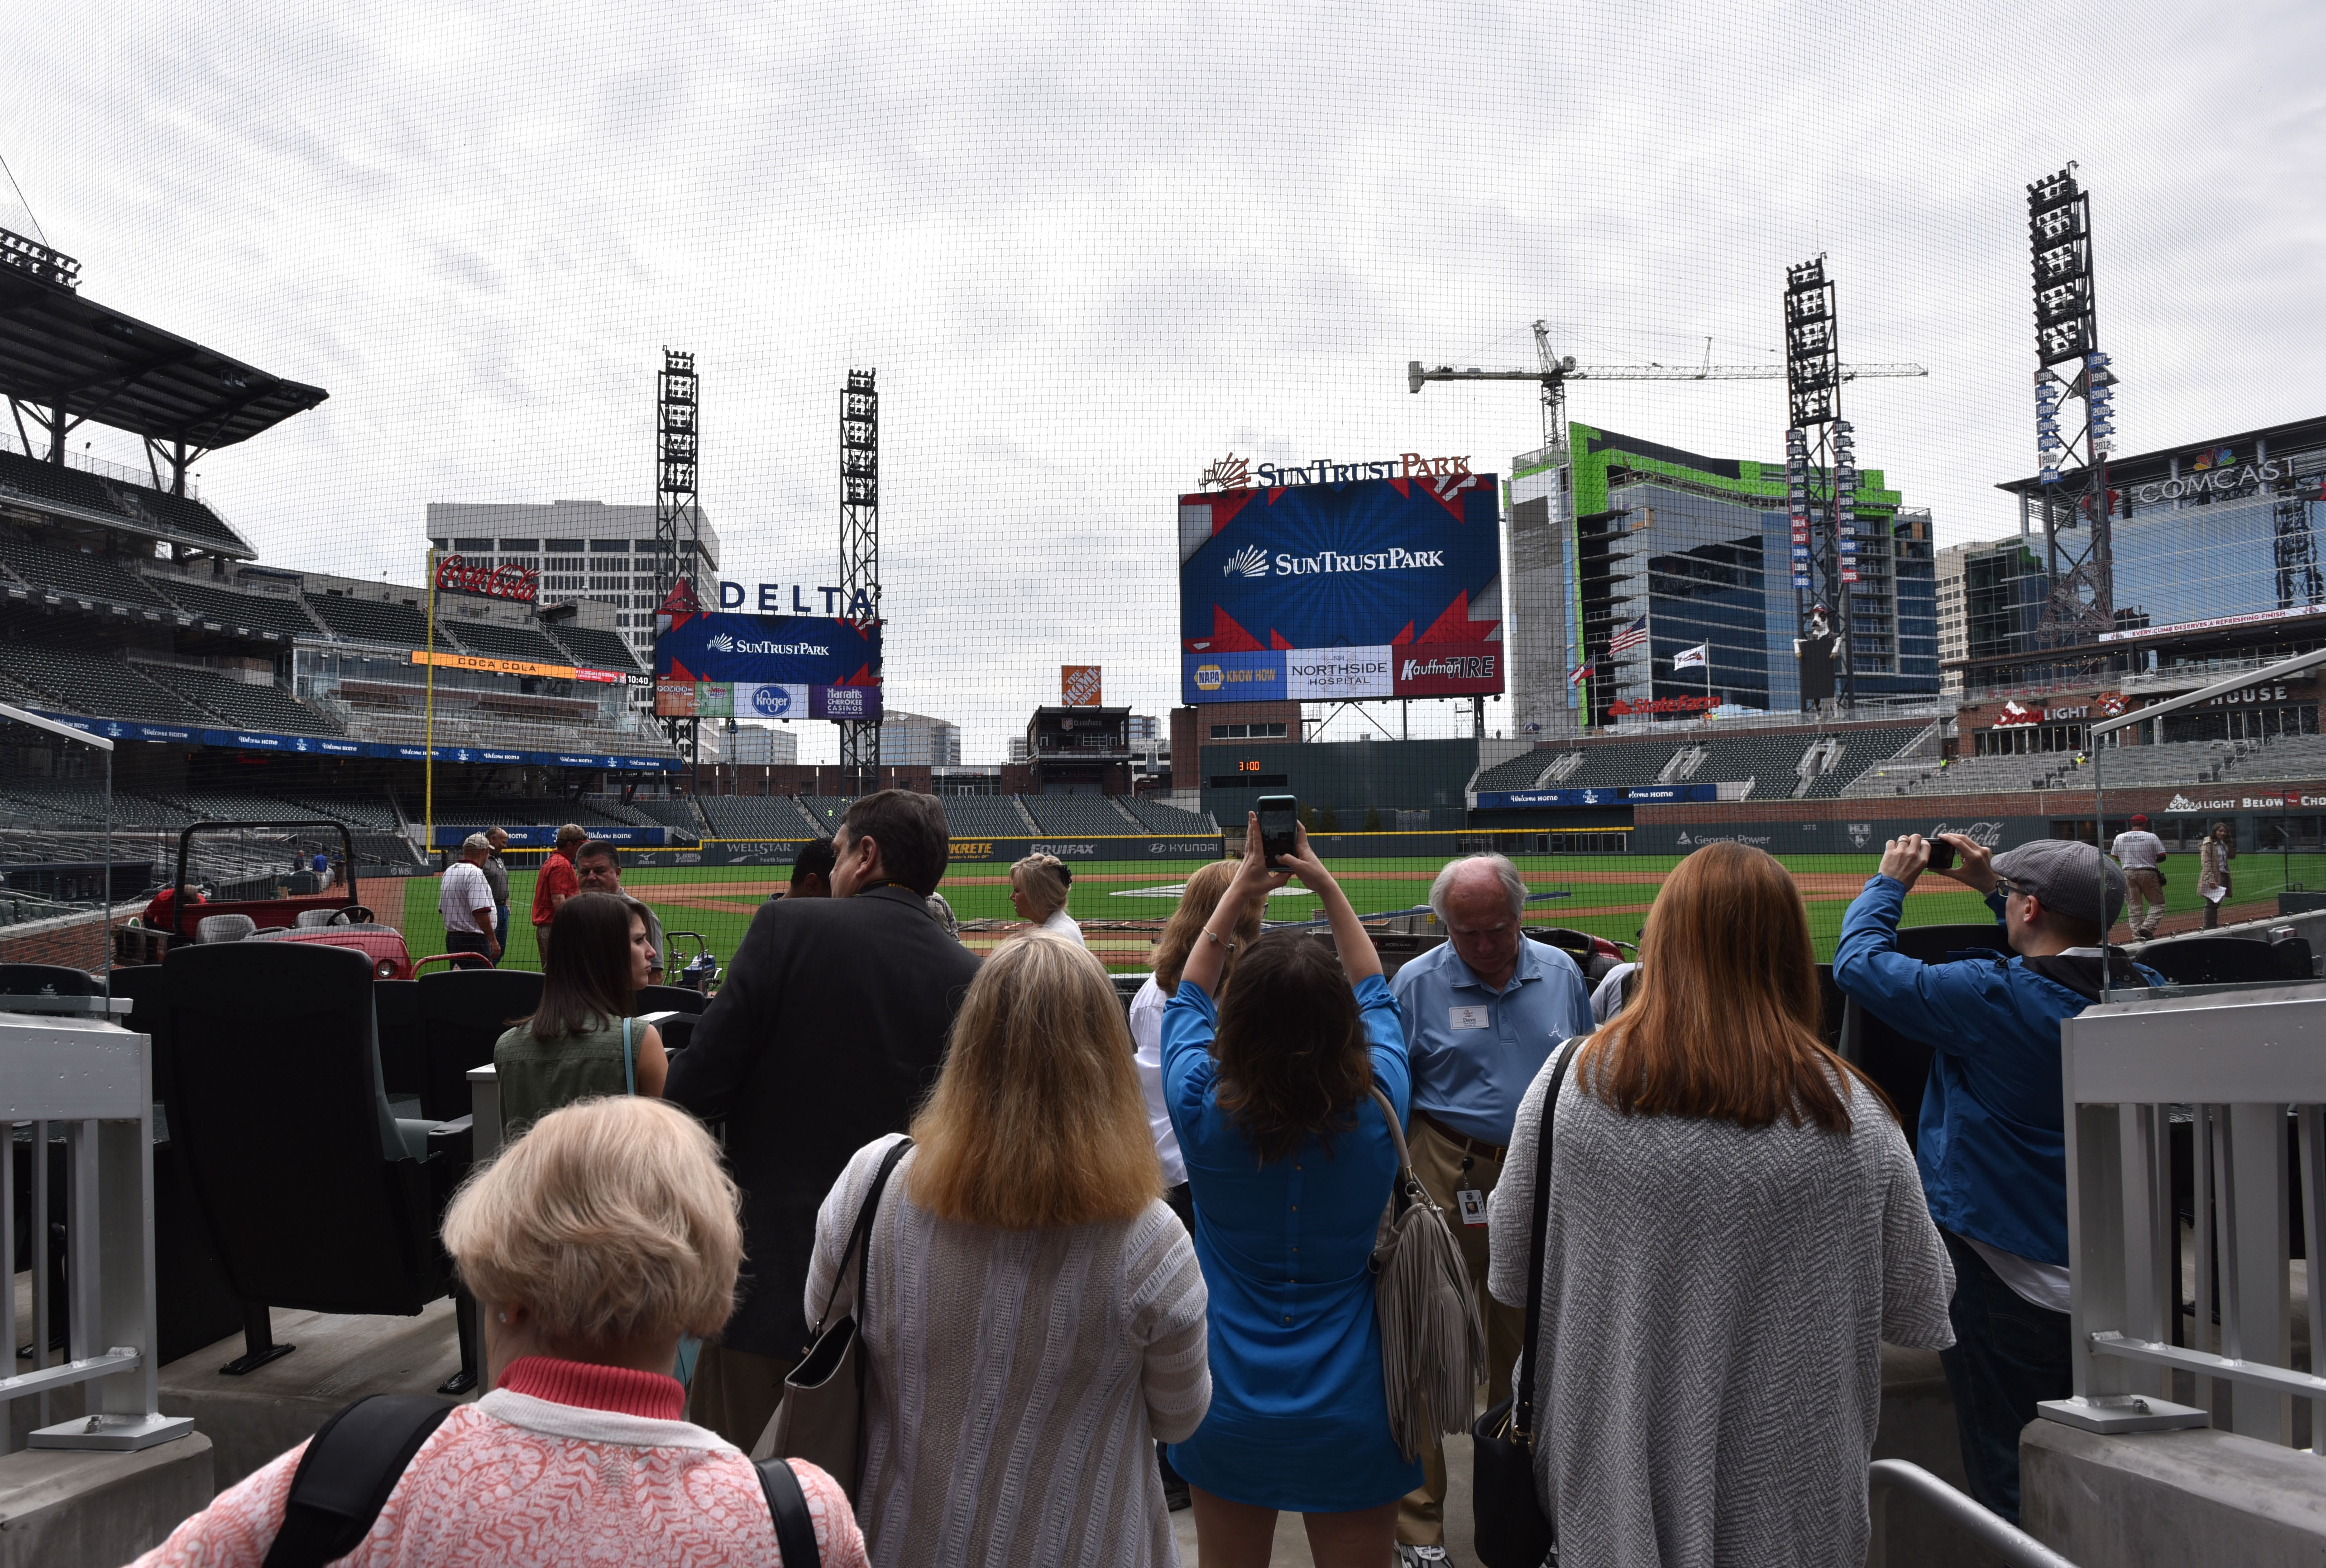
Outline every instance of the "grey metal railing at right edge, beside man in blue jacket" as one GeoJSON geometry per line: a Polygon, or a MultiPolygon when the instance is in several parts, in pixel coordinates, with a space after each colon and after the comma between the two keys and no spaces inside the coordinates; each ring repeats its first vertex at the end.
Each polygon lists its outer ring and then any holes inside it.
{"type": "Polygon", "coordinates": [[[2291,1445],[2291,1400],[2307,1398],[2310,1449],[2326,1454],[2326,1377],[2293,1370],[2286,1273],[2296,1177],[2317,1354],[2326,1342],[2317,1273],[2326,1240],[2326,984],[2086,1007],[2061,1024],[2061,1075],[2075,1396],[2045,1400],[2040,1414],[2086,1431],[2210,1424],[2291,1445]],[[2172,1200],[2172,1126],[2182,1117],[2196,1219],[2191,1333],[2179,1326],[2172,1200]],[[2217,1305],[2219,1349],[2207,1349],[2217,1305]],[[2196,1377],[2196,1405],[2172,1403],[2175,1370],[2196,1377]]]}

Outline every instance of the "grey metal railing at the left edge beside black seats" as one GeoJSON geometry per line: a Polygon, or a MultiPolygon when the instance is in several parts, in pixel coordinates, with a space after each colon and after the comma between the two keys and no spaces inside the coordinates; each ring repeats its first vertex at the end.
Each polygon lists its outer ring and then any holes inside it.
{"type": "MultiPolygon", "coordinates": [[[[30,1259],[0,1221],[0,1280],[33,1273],[33,1368],[0,1377],[0,1433],[19,1398],[40,1400],[37,1449],[147,1449],[193,1431],[167,1417],[154,1366],[154,1045],[107,1021],[102,996],[5,998],[0,1124],[30,1121],[30,1259]],[[49,1282],[49,1128],[65,1131],[65,1300],[49,1282]],[[56,1312],[65,1359],[49,1356],[56,1312]],[[58,1389],[81,1384],[84,1414],[49,1421],[58,1389]]],[[[16,1212],[16,1161],[0,1161],[0,1217],[16,1212]]],[[[0,1291],[0,1345],[19,1342],[16,1291],[0,1291]]],[[[12,1354],[14,1361],[14,1354],[12,1354]]],[[[14,1438],[7,1438],[7,1447],[14,1438]]]]}

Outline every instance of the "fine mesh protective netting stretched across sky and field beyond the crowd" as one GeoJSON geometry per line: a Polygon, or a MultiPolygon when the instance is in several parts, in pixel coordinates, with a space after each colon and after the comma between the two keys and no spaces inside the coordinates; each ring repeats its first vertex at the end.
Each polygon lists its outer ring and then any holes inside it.
{"type": "MultiPolygon", "coordinates": [[[[2226,817],[2268,903],[2326,875],[2314,675],[2128,735],[2105,805],[2089,726],[2326,603],[2282,372],[2319,42],[2154,5],[84,19],[16,42],[9,268],[35,326],[184,342],[56,421],[12,386],[0,700],[112,726],[133,893],[233,824],[207,898],[354,889],[414,958],[502,826],[533,963],[575,821],[723,961],[882,784],[944,798],[972,945],[1054,854],[1121,970],[1263,796],[1384,935],[1500,849],[1531,924],[1633,942],[1738,840],[1828,956],[1889,838],[2133,812],[2191,856],[2226,817]],[[2028,186],[2070,161],[2121,386],[2054,358],[2031,400],[2028,186]],[[2105,603],[2040,484],[2093,386],[2105,603]],[[2056,591],[2098,619],[2045,663],[2056,591]]],[[[0,770],[14,898],[91,858],[93,775],[0,770]]]]}

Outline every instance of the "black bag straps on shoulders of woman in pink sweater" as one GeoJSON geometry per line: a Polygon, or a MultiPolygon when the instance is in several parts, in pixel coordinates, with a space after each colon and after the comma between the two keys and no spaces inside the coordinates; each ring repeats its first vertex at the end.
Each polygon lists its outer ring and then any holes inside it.
{"type": "MultiPolygon", "coordinates": [[[[361,1547],[412,1456],[451,1410],[440,1398],[372,1394],[323,1421],[291,1475],[284,1526],[274,1533],[263,1568],[323,1568],[361,1547]]],[[[816,1519],[807,1510],[800,1477],[782,1459],[751,1468],[768,1496],[784,1568],[821,1568],[816,1519]]]]}

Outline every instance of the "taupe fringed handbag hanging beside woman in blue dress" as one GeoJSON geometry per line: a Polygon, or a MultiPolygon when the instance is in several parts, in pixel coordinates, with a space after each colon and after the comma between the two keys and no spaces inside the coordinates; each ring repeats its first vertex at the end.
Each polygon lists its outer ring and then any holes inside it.
{"type": "Polygon", "coordinates": [[[1372,1307],[1382,1319],[1382,1387],[1389,1431],[1407,1459],[1440,1433],[1470,1424],[1477,1373],[1486,1366],[1486,1331],[1477,1296],[1444,1210],[1414,1175],[1398,1110],[1379,1089],[1375,1105],[1398,1145],[1398,1177],[1372,1240],[1372,1307]]]}

